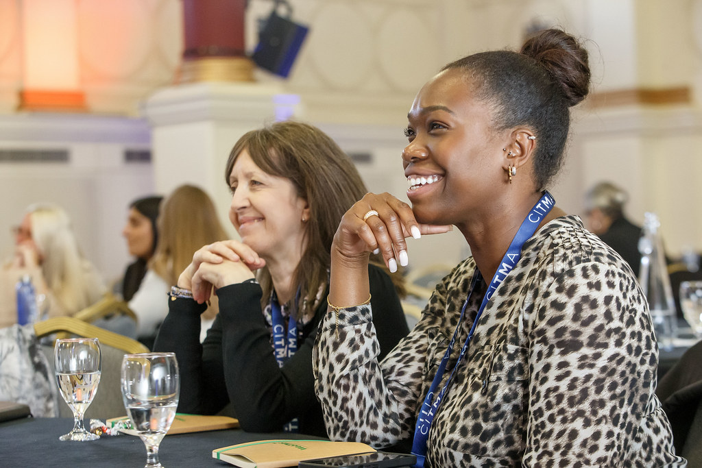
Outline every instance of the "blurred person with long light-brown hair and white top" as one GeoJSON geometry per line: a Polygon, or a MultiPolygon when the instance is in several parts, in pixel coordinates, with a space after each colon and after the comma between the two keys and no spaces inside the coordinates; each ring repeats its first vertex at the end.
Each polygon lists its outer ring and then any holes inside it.
{"type": "MultiPolygon", "coordinates": [[[[166,295],[178,275],[190,265],[192,254],[204,244],[223,241],[222,227],[214,203],[202,189],[181,185],[161,202],[157,220],[158,242],[141,286],[128,301],[138,319],[137,339],[153,347],[161,321],[168,314],[166,295]]],[[[216,300],[202,315],[206,330],[216,314],[216,300]]]]}

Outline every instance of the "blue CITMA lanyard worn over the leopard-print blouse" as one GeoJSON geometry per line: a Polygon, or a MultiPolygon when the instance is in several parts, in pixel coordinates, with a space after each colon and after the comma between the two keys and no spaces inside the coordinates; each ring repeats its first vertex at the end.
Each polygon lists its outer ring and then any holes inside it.
{"type": "Polygon", "coordinates": [[[434,376],[434,380],[432,380],[432,384],[429,387],[429,392],[427,392],[427,396],[425,396],[425,399],[422,403],[422,408],[419,411],[419,416],[417,417],[417,424],[414,429],[414,440],[412,442],[412,453],[417,457],[417,463],[414,465],[414,467],[421,468],[424,466],[424,460],[427,455],[427,441],[429,439],[429,429],[432,425],[432,421],[434,420],[434,416],[436,415],[437,410],[439,409],[439,405],[444,399],[446,391],[449,389],[449,385],[451,385],[451,381],[453,380],[453,374],[456,373],[456,369],[461,363],[463,356],[465,356],[465,352],[468,351],[468,345],[470,344],[470,340],[473,337],[473,333],[475,333],[475,328],[477,326],[478,320],[480,319],[480,316],[482,315],[482,312],[485,309],[487,302],[491,299],[492,295],[495,293],[498,286],[500,286],[505,277],[512,271],[512,268],[514,268],[515,265],[517,265],[517,262],[519,261],[519,258],[522,255],[522,246],[524,246],[524,243],[527,240],[529,240],[531,236],[534,235],[534,232],[536,232],[536,228],[538,227],[539,223],[543,220],[545,215],[547,215],[550,212],[554,204],[555,200],[553,199],[551,194],[548,192],[543,192],[543,196],[541,196],[541,199],[539,199],[536,205],[534,205],[534,207],[531,208],[531,211],[529,211],[527,218],[524,218],[524,221],[522,221],[522,225],[519,226],[517,234],[515,234],[514,239],[512,239],[512,242],[510,243],[510,246],[507,249],[507,253],[505,253],[505,256],[503,257],[502,262],[500,262],[500,266],[498,267],[497,272],[495,272],[492,281],[490,281],[490,284],[488,285],[485,297],[483,297],[482,303],[480,304],[478,312],[475,316],[475,321],[473,321],[473,324],[470,327],[470,332],[468,332],[468,337],[466,337],[465,342],[463,343],[463,347],[461,348],[461,354],[458,355],[456,365],[453,366],[451,374],[449,375],[449,379],[446,380],[446,384],[444,384],[444,387],[442,387],[441,391],[439,392],[439,395],[435,399],[434,396],[437,392],[437,388],[439,387],[439,383],[441,382],[442,378],[444,377],[444,373],[446,372],[446,364],[449,362],[449,357],[451,356],[453,344],[454,342],[456,342],[458,330],[461,328],[461,323],[463,322],[465,308],[468,306],[470,296],[472,295],[473,290],[475,290],[475,286],[477,285],[478,281],[482,281],[482,275],[480,274],[478,269],[475,269],[472,281],[470,282],[470,290],[468,291],[468,297],[466,298],[465,302],[463,302],[463,307],[461,308],[461,317],[458,319],[458,325],[456,326],[456,330],[453,332],[453,337],[451,337],[449,347],[446,348],[444,357],[442,358],[442,361],[439,364],[437,373],[434,376]]]}

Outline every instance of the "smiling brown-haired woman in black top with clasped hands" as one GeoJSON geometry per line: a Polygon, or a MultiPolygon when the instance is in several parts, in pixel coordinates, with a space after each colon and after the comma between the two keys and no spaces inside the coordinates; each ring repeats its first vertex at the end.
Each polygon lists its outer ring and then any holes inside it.
{"type": "MultiPolygon", "coordinates": [[[[178,410],[213,414],[231,403],[247,431],[326,436],[312,346],[327,311],[334,232],[366,189],[331,138],[293,121],[242,136],[225,180],[241,241],[194,253],[154,346],[178,357],[178,410]],[[200,346],[199,314],[213,288],[220,312],[200,346]]],[[[374,281],[364,300],[383,310],[373,332],[373,355],[382,358],[409,330],[388,270],[382,262],[364,268],[374,281]]]]}

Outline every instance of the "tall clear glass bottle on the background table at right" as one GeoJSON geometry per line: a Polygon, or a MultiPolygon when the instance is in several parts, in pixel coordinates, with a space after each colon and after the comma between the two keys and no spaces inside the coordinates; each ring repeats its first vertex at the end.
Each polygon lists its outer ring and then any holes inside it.
{"type": "Polygon", "coordinates": [[[641,253],[639,283],[649,302],[658,346],[669,351],[673,349],[673,340],[677,335],[677,317],[668,267],[665,265],[661,234],[658,232],[660,227],[661,222],[657,215],[645,214],[644,227],[639,239],[641,253]]]}

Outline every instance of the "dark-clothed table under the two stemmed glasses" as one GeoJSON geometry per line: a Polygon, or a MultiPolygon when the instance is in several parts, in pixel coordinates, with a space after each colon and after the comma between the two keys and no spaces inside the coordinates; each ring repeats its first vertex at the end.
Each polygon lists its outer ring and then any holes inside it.
{"type": "MultiPolygon", "coordinates": [[[[86,421],[88,424],[88,421],[86,421]]],[[[4,467],[138,467],[146,463],[144,443],[135,436],[102,436],[97,441],[59,441],[73,427],[65,417],[26,417],[0,424],[0,465],[4,467]]],[[[173,467],[232,467],[212,450],[265,439],[321,439],[304,434],[255,434],[241,429],[164,437],[159,460],[173,467]]]]}

